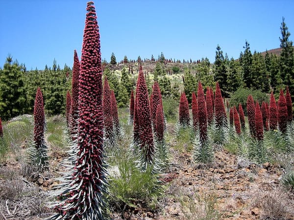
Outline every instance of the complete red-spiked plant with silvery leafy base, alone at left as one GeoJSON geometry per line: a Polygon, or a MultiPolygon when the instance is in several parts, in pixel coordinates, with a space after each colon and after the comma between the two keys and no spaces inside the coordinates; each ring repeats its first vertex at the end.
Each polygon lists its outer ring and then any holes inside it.
{"type": "Polygon", "coordinates": [[[48,169],[48,149],[45,143],[45,112],[41,88],[37,88],[34,105],[34,143],[28,156],[32,165],[38,170],[48,169]]]}

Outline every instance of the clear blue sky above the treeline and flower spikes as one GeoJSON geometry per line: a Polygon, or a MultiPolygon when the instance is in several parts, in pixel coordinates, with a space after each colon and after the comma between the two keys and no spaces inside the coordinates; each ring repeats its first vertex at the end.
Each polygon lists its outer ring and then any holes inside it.
{"type": "MultiPolygon", "coordinates": [[[[239,57],[245,40],[262,52],[280,46],[282,17],[294,40],[294,0],[94,0],[101,56],[215,61],[219,44],[239,57]]],[[[8,53],[26,68],[81,55],[87,0],[0,0],[0,66],[8,53]]]]}

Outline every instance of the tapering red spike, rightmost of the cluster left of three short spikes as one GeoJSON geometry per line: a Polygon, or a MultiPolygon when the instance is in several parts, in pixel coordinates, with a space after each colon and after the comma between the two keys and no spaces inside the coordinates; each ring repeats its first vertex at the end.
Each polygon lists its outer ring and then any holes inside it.
{"type": "Polygon", "coordinates": [[[227,125],[227,117],[224,109],[224,104],[221,96],[221,89],[219,82],[216,83],[216,94],[215,94],[215,117],[217,126],[227,125]]]}

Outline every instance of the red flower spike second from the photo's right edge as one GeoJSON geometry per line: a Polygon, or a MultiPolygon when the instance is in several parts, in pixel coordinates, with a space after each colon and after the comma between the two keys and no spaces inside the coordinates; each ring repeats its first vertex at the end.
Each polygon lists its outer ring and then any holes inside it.
{"type": "Polygon", "coordinates": [[[282,133],[285,133],[287,131],[287,122],[288,122],[288,113],[287,113],[286,99],[284,96],[284,92],[281,89],[279,101],[278,101],[278,125],[282,133]]]}

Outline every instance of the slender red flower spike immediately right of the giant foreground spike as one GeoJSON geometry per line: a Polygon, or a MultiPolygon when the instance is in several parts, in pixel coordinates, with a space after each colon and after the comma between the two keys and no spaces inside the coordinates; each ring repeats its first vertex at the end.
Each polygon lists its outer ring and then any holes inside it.
{"type": "Polygon", "coordinates": [[[113,137],[113,116],[112,116],[112,107],[111,107],[111,92],[110,87],[107,81],[107,78],[104,77],[104,87],[103,87],[103,115],[104,115],[104,140],[113,137]]]}

